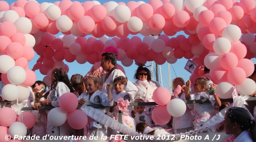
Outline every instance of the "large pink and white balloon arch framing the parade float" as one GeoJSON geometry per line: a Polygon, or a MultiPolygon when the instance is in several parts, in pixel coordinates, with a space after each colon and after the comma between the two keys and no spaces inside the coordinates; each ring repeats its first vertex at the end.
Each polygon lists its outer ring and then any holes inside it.
{"type": "Polygon", "coordinates": [[[254,72],[250,59],[256,54],[255,33],[254,0],[110,1],[103,5],[98,1],[40,4],[18,0],[11,5],[0,1],[0,72],[3,82],[9,84],[8,90],[16,94],[9,101],[18,97],[23,100],[26,97],[19,95],[19,90],[36,79],[27,64],[34,58],[34,51],[40,55],[34,69],[47,75],[55,66],[68,69],[64,59],[94,64],[100,61],[103,49],[113,45],[124,66],[130,66],[133,60],[173,64],[183,57],[193,58],[198,67],[192,79],[202,75],[205,65],[215,84],[225,82],[223,88],[216,88],[223,98],[230,97],[227,90],[233,85],[248,95],[248,90],[256,87],[246,79],[254,72]],[[56,38],[59,31],[64,36],[56,38]],[[184,31],[188,38],[178,35],[169,39],[178,31],[184,31]],[[150,36],[162,32],[165,35],[157,39],[150,36]],[[143,40],[127,37],[138,33],[145,36],[143,40]],[[93,37],[87,39],[86,35],[93,37]]]}

